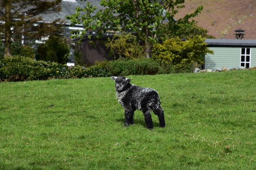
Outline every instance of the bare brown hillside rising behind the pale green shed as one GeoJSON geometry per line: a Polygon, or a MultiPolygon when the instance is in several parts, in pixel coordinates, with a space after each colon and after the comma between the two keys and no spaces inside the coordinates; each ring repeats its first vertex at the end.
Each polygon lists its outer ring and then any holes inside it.
{"type": "Polygon", "coordinates": [[[176,19],[193,13],[203,5],[203,11],[193,18],[209,35],[220,39],[234,39],[236,29],[245,30],[244,39],[256,39],[256,0],[185,0],[176,19]]]}

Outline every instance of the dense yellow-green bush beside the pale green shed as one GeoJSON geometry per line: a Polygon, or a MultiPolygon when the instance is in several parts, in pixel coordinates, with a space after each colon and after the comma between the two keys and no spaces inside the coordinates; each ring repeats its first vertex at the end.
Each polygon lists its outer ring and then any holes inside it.
{"type": "Polygon", "coordinates": [[[213,54],[209,50],[204,38],[195,36],[192,39],[182,41],[180,38],[171,38],[163,44],[155,44],[152,51],[152,59],[161,63],[171,62],[174,68],[185,69],[189,64],[204,63],[204,55],[213,54]]]}

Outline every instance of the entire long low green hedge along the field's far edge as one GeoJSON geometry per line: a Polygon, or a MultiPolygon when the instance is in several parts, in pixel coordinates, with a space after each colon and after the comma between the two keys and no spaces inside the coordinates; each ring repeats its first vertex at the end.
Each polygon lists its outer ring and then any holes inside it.
{"type": "Polygon", "coordinates": [[[36,61],[23,56],[5,57],[0,60],[1,82],[169,73],[184,73],[184,71],[173,69],[172,64],[160,65],[159,62],[151,58],[103,61],[90,67],[69,67],[56,62],[36,61]]]}

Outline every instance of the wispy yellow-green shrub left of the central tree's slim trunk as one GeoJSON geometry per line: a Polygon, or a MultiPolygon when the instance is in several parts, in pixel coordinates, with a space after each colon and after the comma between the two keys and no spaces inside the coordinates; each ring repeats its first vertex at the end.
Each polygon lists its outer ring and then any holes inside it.
{"type": "Polygon", "coordinates": [[[143,46],[140,46],[136,36],[131,33],[116,34],[105,43],[112,55],[119,55],[127,59],[145,57],[143,46]]]}

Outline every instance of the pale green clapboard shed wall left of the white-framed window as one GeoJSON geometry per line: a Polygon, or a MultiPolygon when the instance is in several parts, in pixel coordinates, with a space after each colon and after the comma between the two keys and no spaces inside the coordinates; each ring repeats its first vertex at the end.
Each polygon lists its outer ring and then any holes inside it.
{"type": "Polygon", "coordinates": [[[205,56],[205,69],[240,67],[240,47],[209,47],[209,49],[214,54],[205,56]]]}

